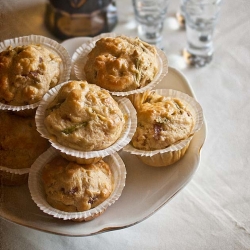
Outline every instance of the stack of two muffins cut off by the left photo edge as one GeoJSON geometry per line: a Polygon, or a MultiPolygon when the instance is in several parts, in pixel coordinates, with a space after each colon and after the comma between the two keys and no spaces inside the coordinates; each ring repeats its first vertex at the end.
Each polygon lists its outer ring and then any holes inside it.
{"type": "Polygon", "coordinates": [[[0,47],[0,183],[20,185],[50,146],[36,130],[36,108],[50,88],[68,79],[71,65],[67,51],[48,38],[10,39],[0,47]]]}

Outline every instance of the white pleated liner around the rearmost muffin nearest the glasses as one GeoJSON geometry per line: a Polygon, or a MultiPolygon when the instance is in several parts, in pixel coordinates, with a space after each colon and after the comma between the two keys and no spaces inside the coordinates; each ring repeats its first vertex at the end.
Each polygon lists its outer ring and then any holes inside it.
{"type": "MultiPolygon", "coordinates": [[[[87,56],[89,52],[95,47],[95,43],[101,38],[117,37],[119,35],[120,34],[115,34],[115,33],[102,33],[101,35],[92,38],[90,41],[82,44],[79,48],[76,49],[75,53],[72,56],[72,65],[77,79],[86,80],[83,68],[87,61],[87,56]]],[[[128,96],[135,93],[142,93],[146,90],[154,88],[159,82],[161,82],[163,77],[168,73],[168,60],[165,53],[162,50],[158,49],[157,47],[156,50],[158,54],[157,60],[158,60],[159,71],[156,74],[153,81],[151,81],[146,86],[135,90],[121,91],[121,92],[113,92],[109,90],[108,91],[115,96],[128,96]]]]}

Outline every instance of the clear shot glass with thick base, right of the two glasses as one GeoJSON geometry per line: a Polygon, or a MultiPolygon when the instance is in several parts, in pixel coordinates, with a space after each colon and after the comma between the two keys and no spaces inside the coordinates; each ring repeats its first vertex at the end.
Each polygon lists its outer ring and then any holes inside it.
{"type": "Polygon", "coordinates": [[[213,32],[222,0],[184,0],[187,48],[184,57],[196,67],[211,62],[214,54],[213,32]]]}

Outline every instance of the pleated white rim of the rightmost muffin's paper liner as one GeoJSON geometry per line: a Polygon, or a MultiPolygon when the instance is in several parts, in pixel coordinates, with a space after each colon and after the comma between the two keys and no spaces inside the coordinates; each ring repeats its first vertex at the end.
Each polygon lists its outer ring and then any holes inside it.
{"type": "Polygon", "coordinates": [[[146,151],[146,150],[139,150],[134,148],[131,144],[126,145],[123,148],[123,151],[137,155],[137,156],[141,156],[141,157],[153,157],[155,155],[158,154],[165,154],[168,152],[174,152],[174,151],[179,151],[182,150],[183,148],[187,147],[187,145],[190,143],[190,141],[193,138],[193,135],[198,132],[203,124],[203,111],[202,108],[200,106],[200,104],[191,96],[174,90],[174,89],[156,89],[153,90],[154,92],[156,92],[159,95],[162,96],[167,96],[167,97],[176,97],[179,98],[182,102],[184,102],[188,108],[188,110],[190,110],[190,112],[192,113],[193,117],[195,118],[195,125],[190,133],[190,136],[187,139],[181,140],[167,148],[164,149],[158,149],[158,150],[152,150],[152,151],[146,151]]]}

